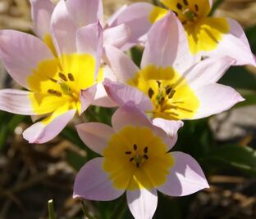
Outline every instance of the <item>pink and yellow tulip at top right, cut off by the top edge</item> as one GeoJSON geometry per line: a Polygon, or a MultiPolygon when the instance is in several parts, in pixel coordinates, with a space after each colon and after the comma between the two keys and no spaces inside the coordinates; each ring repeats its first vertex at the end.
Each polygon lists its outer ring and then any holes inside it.
{"type": "MultiPolygon", "coordinates": [[[[209,17],[212,0],[160,0],[167,9],[174,11],[185,28],[191,54],[200,56],[229,56],[233,65],[256,65],[256,59],[242,27],[230,18],[209,17]]],[[[144,21],[131,25],[133,36],[144,41],[153,23],[166,16],[168,10],[146,2],[131,4],[120,12],[118,20],[126,20],[135,11],[142,13],[144,21]],[[141,12],[139,12],[141,11],[141,12]]],[[[116,21],[117,23],[117,21],[116,21]]]]}

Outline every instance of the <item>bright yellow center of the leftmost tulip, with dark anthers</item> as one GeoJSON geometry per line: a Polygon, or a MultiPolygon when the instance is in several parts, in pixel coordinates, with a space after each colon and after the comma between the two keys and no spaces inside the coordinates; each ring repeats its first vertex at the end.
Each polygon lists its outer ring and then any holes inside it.
{"type": "Polygon", "coordinates": [[[94,71],[95,59],[89,54],[63,54],[53,60],[41,61],[27,78],[34,112],[48,114],[55,111],[57,116],[75,109],[80,113],[80,91],[97,83],[94,71]]]}

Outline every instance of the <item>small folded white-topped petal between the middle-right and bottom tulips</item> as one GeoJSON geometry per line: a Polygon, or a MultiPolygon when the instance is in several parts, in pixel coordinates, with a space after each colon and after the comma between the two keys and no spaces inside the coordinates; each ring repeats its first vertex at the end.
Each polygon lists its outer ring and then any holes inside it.
{"type": "Polygon", "coordinates": [[[178,139],[177,132],[180,127],[183,127],[184,123],[182,121],[171,121],[164,118],[153,118],[152,122],[154,126],[159,127],[160,130],[157,131],[155,128],[155,132],[166,142],[167,150],[171,150],[178,139]]]}

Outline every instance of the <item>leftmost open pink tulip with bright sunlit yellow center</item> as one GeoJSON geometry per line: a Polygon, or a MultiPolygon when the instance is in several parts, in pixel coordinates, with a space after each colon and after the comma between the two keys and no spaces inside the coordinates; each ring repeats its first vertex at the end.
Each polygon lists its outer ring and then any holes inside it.
{"type": "Polygon", "coordinates": [[[2,63],[28,90],[1,90],[0,110],[43,118],[23,133],[30,143],[51,140],[75,113],[82,114],[94,101],[101,77],[103,29],[99,23],[78,27],[61,0],[54,7],[49,35],[43,24],[35,29],[44,42],[15,30],[0,31],[2,63]]]}

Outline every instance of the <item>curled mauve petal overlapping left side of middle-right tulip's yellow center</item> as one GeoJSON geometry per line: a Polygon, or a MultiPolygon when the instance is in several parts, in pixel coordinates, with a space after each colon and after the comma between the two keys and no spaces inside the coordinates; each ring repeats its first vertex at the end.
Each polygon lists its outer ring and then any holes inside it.
{"type": "Polygon", "coordinates": [[[144,92],[139,91],[137,88],[123,83],[112,82],[107,79],[105,79],[103,85],[107,95],[112,101],[116,102],[117,105],[124,105],[128,101],[132,101],[139,110],[153,110],[153,105],[149,96],[146,96],[144,92]]]}

